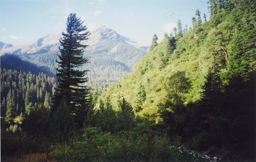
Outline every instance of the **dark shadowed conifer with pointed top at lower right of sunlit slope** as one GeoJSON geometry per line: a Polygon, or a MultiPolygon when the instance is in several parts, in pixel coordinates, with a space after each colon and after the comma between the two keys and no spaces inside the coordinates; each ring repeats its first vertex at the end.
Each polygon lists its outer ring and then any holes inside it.
{"type": "Polygon", "coordinates": [[[200,125],[208,131],[208,134],[204,138],[215,138],[220,141],[224,138],[223,132],[226,131],[224,126],[227,124],[227,120],[222,113],[222,109],[225,109],[226,105],[224,106],[223,104],[225,100],[218,69],[213,71],[212,68],[209,68],[205,79],[206,81],[202,86],[202,103],[199,111],[201,115],[199,117],[200,125]]]}

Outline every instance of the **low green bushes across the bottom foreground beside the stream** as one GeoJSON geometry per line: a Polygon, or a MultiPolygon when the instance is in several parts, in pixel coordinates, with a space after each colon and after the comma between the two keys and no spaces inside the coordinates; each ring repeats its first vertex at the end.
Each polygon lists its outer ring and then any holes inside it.
{"type": "Polygon", "coordinates": [[[54,159],[65,161],[209,161],[181,142],[164,134],[120,131],[102,134],[97,128],[84,129],[82,141],[54,146],[54,159]],[[172,145],[173,144],[173,145],[172,145]]]}

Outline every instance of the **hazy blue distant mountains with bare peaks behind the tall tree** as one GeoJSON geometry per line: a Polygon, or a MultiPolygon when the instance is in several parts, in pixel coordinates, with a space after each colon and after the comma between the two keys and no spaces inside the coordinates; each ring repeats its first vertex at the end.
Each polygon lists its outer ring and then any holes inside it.
{"type": "MultiPolygon", "coordinates": [[[[61,36],[61,33],[56,33],[17,46],[0,42],[1,68],[55,75],[61,36]]],[[[82,44],[89,45],[84,56],[89,58],[90,63],[82,66],[82,69],[90,70],[88,85],[101,87],[117,83],[132,72],[149,47],[147,42],[133,41],[106,26],[92,31],[89,39],[82,41],[82,44]]]]}

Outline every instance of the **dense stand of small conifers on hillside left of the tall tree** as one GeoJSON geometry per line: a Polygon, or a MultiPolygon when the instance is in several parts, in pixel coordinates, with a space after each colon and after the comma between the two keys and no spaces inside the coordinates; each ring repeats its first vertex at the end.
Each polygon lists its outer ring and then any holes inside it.
{"type": "Polygon", "coordinates": [[[24,115],[35,103],[41,103],[50,110],[55,87],[55,77],[47,77],[44,73],[35,75],[1,69],[1,117],[6,116],[10,105],[14,106],[15,116],[24,115]]]}

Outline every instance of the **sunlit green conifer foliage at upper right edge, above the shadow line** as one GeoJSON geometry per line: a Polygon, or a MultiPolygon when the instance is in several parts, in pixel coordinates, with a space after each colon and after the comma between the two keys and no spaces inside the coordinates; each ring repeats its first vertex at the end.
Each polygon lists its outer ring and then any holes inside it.
{"type": "Polygon", "coordinates": [[[229,57],[229,73],[230,76],[248,81],[255,75],[256,8],[251,6],[255,6],[256,2],[249,0],[239,4],[240,7],[233,10],[237,14],[233,17],[235,27],[229,57]]]}

